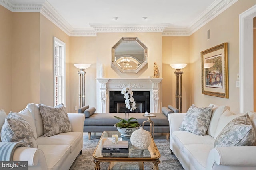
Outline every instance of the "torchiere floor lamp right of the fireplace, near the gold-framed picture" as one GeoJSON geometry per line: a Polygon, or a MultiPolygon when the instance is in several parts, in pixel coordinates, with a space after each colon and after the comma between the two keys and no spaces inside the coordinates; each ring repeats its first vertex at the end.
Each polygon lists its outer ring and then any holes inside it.
{"type": "Polygon", "coordinates": [[[176,69],[176,71],[174,72],[176,75],[176,94],[175,94],[175,98],[176,98],[176,108],[180,110],[180,113],[182,113],[182,93],[181,93],[181,89],[182,89],[182,74],[183,71],[181,71],[182,68],[185,68],[187,66],[187,64],[170,64],[170,66],[174,69],[176,69]]]}

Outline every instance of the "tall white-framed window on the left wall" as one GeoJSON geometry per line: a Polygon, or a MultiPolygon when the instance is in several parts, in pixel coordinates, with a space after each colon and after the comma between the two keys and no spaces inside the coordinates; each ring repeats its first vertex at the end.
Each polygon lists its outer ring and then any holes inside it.
{"type": "Polygon", "coordinates": [[[66,67],[65,55],[66,44],[54,37],[54,106],[63,103],[65,105],[65,84],[66,84],[66,67]]]}

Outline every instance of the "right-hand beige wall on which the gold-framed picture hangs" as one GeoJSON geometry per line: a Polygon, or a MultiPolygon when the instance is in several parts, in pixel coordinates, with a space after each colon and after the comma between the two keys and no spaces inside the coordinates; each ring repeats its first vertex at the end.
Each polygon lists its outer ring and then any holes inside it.
{"type": "Polygon", "coordinates": [[[239,88],[236,88],[239,73],[239,14],[256,4],[256,0],[239,0],[212,21],[190,36],[190,84],[191,103],[207,106],[209,103],[226,104],[239,113],[239,88]],[[207,40],[207,30],[210,39],[207,40]],[[228,42],[229,98],[203,95],[201,90],[200,52],[228,42]]]}

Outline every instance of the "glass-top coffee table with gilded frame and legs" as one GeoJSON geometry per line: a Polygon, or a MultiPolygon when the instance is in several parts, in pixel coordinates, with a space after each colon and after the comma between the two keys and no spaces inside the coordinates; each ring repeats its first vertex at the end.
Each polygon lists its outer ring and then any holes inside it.
{"type": "Polygon", "coordinates": [[[102,145],[105,140],[109,140],[112,134],[118,134],[118,131],[104,131],[101,135],[100,141],[94,150],[93,157],[95,167],[94,170],[100,170],[100,162],[110,162],[109,170],[144,170],[143,162],[153,162],[153,170],[158,170],[159,158],[161,157],[153,138],[148,149],[136,149],[130,142],[130,137],[122,137],[122,141],[128,141],[129,153],[102,153],[102,145]]]}

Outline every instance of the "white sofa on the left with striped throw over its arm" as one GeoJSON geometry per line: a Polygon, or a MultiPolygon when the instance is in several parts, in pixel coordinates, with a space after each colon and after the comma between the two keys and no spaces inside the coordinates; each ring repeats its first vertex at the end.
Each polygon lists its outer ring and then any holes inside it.
{"type": "MultiPolygon", "coordinates": [[[[28,161],[28,170],[68,170],[82,154],[84,114],[68,113],[72,132],[44,137],[38,104],[28,104],[27,108],[34,118],[38,148],[18,147],[13,160],[28,161]]],[[[6,114],[0,114],[0,131],[5,118],[6,114]]]]}

